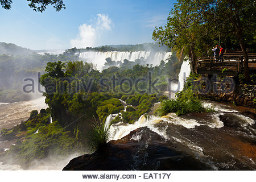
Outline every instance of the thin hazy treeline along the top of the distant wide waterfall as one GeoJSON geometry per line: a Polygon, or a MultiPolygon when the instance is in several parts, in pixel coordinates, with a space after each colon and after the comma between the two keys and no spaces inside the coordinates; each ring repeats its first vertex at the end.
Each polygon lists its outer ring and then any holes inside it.
{"type": "Polygon", "coordinates": [[[71,48],[65,51],[65,55],[74,55],[76,52],[86,52],[86,51],[155,51],[155,52],[170,52],[171,49],[167,46],[159,46],[158,43],[144,43],[136,45],[110,45],[101,47],[86,47],[86,48],[71,48]]]}

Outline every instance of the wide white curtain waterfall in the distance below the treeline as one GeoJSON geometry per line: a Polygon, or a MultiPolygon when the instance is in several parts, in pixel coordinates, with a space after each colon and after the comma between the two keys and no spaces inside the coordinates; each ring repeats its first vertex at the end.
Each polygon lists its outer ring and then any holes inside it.
{"type": "Polygon", "coordinates": [[[124,51],[108,51],[108,52],[81,52],[76,53],[81,59],[94,63],[97,68],[102,70],[104,67],[105,59],[110,57],[112,61],[122,61],[127,59],[129,61],[135,61],[136,59],[141,59],[143,57],[148,64],[158,65],[160,61],[166,61],[168,57],[171,56],[171,52],[156,52],[151,51],[134,51],[134,52],[124,52],[124,51]]]}

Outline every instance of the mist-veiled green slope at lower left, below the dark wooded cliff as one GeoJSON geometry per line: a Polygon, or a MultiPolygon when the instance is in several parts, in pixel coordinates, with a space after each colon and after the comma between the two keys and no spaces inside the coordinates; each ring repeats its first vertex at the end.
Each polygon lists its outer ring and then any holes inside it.
{"type": "Polygon", "coordinates": [[[81,143],[73,137],[71,131],[65,131],[58,121],[49,123],[49,117],[49,109],[42,110],[40,114],[34,115],[11,130],[2,129],[2,137],[12,135],[19,138],[17,144],[11,146],[3,157],[10,158],[14,163],[22,164],[26,168],[34,159],[80,152],[81,143]]]}

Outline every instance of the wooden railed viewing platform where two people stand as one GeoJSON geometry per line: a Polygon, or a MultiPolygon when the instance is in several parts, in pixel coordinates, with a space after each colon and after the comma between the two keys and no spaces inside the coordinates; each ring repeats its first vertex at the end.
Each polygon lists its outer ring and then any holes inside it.
{"type": "MultiPolygon", "coordinates": [[[[249,72],[256,73],[256,53],[247,53],[249,72]]],[[[214,57],[197,57],[196,72],[202,75],[238,76],[243,71],[244,56],[242,52],[226,52],[220,62],[214,57]]]]}

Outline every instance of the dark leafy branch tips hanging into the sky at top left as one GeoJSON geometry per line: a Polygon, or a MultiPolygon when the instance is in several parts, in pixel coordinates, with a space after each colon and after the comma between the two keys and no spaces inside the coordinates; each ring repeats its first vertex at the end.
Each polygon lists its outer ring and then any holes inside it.
{"type": "MultiPolygon", "coordinates": [[[[53,5],[53,8],[56,9],[56,11],[60,11],[61,9],[66,9],[65,4],[63,3],[63,0],[27,0],[28,6],[31,7],[34,11],[39,11],[43,13],[44,10],[46,10],[46,7],[48,5],[53,5]]],[[[0,0],[1,6],[6,9],[11,9],[11,3],[13,3],[12,0],[0,0]]]]}

